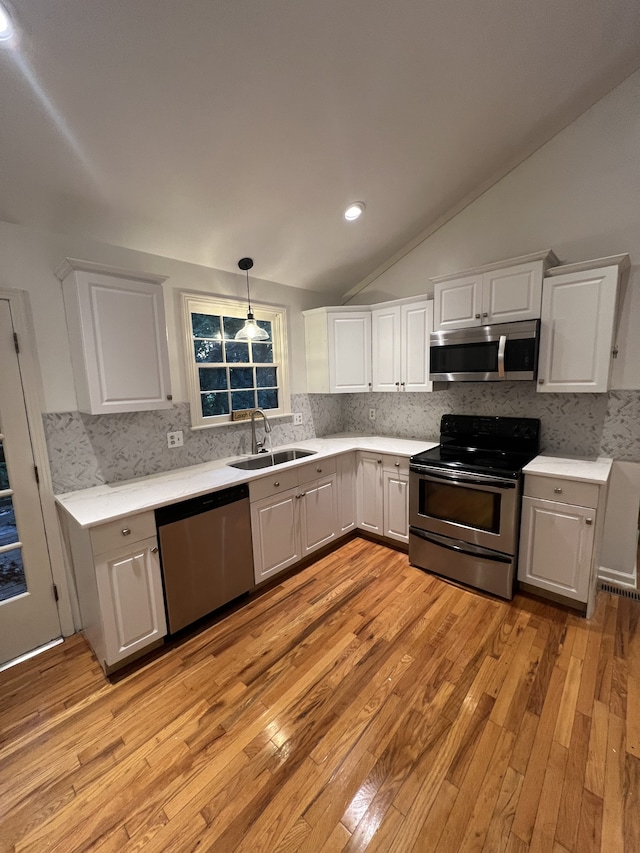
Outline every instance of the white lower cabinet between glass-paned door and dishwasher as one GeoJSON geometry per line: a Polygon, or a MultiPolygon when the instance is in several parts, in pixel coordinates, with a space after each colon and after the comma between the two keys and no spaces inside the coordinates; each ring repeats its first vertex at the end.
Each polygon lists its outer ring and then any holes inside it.
{"type": "Polygon", "coordinates": [[[167,633],[153,512],[82,529],[64,516],[85,636],[105,670],[167,633]]]}

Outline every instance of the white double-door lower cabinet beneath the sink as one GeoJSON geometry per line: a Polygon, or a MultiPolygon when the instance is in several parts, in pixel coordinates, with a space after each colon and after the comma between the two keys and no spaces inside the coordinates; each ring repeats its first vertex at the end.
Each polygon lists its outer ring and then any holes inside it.
{"type": "Polygon", "coordinates": [[[250,483],[256,583],[337,538],[336,492],[335,459],[305,463],[250,483]]]}

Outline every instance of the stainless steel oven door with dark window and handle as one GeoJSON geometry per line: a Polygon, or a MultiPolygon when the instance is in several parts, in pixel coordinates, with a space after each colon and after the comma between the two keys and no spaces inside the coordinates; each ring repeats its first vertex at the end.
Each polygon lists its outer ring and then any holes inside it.
{"type": "Polygon", "coordinates": [[[417,530],[515,554],[520,480],[411,466],[409,524],[417,530]]]}

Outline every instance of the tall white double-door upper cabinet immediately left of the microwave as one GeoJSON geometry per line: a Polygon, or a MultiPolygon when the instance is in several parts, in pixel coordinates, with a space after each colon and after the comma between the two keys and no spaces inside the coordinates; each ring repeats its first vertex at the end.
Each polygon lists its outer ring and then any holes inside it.
{"type": "Polygon", "coordinates": [[[429,333],[433,300],[388,302],[371,309],[374,391],[431,391],[429,333]]]}

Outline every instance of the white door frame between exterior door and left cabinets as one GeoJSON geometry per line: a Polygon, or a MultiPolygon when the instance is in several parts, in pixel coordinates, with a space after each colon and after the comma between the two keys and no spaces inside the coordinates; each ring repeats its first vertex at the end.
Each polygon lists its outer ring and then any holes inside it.
{"type": "Polygon", "coordinates": [[[47,551],[51,564],[51,575],[58,591],[60,630],[64,637],[68,637],[74,634],[81,626],[74,624],[70,585],[51,482],[49,455],[47,453],[47,443],[42,422],[44,394],[35,344],[35,327],[31,315],[29,294],[24,290],[0,288],[0,299],[9,302],[13,329],[18,336],[20,352],[17,358],[20,366],[33,458],[35,464],[38,466],[38,477],[40,480],[38,488],[47,540],[47,551]]]}

